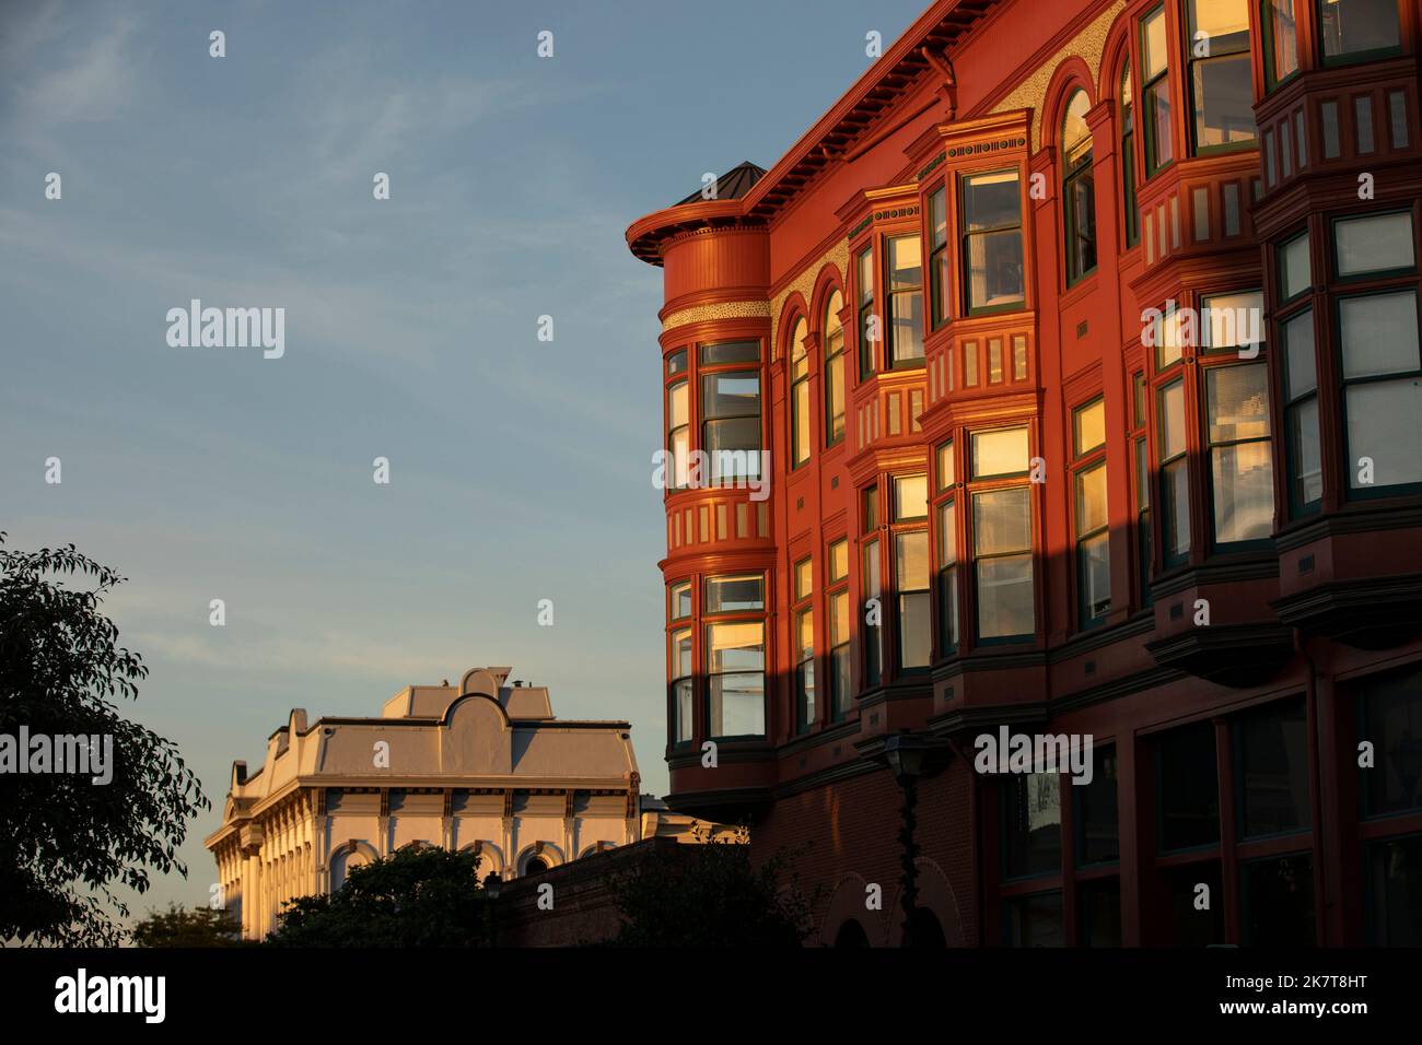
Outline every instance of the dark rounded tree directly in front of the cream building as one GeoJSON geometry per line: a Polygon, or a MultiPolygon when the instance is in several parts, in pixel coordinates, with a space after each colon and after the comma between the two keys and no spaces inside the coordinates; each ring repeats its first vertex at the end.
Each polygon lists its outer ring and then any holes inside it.
{"type": "Polygon", "coordinates": [[[479,857],[404,846],[351,867],[328,896],[293,900],[267,936],[273,947],[483,947],[492,906],[479,857]]]}

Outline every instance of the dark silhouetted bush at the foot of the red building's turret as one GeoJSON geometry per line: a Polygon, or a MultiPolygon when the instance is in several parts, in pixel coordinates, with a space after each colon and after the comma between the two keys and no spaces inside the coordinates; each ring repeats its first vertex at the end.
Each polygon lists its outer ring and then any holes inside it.
{"type": "Polygon", "coordinates": [[[611,883],[623,918],[614,947],[802,947],[812,901],[784,853],[751,863],[735,842],[681,846],[675,859],[643,863],[611,883]]]}

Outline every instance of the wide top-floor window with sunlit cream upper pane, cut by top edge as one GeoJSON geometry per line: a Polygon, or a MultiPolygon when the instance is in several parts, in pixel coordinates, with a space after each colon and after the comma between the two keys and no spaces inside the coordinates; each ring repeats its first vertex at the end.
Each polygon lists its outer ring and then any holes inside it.
{"type": "Polygon", "coordinates": [[[1186,0],[1196,154],[1254,141],[1249,0],[1186,0]]]}

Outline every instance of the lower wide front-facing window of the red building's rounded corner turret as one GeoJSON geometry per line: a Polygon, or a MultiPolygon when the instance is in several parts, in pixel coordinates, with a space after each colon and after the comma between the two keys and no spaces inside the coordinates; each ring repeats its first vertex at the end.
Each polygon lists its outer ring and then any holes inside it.
{"type": "Polygon", "coordinates": [[[708,735],[765,735],[765,579],[705,582],[708,735]]]}

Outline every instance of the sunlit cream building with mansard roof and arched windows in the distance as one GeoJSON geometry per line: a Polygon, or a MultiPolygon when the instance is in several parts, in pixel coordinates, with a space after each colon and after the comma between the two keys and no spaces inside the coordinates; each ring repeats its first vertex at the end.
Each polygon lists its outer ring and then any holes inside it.
{"type": "Polygon", "coordinates": [[[643,812],[627,722],[559,721],[546,688],[508,674],[407,687],[378,718],[309,725],[294,709],[257,772],[235,762],[205,845],[243,936],[262,938],[287,900],[410,843],[472,849],[481,879],[512,879],[644,835],[704,840],[707,825],[643,812]]]}

